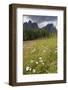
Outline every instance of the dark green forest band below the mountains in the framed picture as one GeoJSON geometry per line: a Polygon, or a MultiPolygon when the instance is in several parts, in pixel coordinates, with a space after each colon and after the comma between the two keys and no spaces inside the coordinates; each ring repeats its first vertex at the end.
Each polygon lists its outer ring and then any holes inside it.
{"type": "Polygon", "coordinates": [[[34,40],[38,38],[48,38],[51,35],[54,35],[55,32],[49,32],[45,29],[28,29],[23,30],[23,40],[34,40]]]}

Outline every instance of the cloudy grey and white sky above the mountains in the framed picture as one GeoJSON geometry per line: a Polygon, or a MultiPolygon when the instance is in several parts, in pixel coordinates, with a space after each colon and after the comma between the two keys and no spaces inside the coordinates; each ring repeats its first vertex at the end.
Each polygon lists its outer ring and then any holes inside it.
{"type": "Polygon", "coordinates": [[[38,16],[38,15],[23,16],[23,22],[28,22],[29,20],[31,20],[32,22],[36,22],[39,28],[42,28],[50,23],[52,23],[55,27],[57,27],[57,16],[38,16]]]}

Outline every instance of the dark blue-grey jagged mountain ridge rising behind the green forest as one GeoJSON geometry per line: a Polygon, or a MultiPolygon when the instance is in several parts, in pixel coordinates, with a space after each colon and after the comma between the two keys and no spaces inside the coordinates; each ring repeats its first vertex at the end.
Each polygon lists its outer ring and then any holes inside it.
{"type": "Polygon", "coordinates": [[[48,30],[48,32],[57,32],[57,29],[56,27],[51,23],[51,24],[47,24],[46,26],[42,27],[42,28],[39,28],[38,27],[38,24],[35,22],[35,23],[32,23],[32,21],[28,21],[28,22],[25,22],[23,24],[23,27],[24,27],[24,30],[29,30],[29,29],[45,29],[45,30],[48,30]]]}

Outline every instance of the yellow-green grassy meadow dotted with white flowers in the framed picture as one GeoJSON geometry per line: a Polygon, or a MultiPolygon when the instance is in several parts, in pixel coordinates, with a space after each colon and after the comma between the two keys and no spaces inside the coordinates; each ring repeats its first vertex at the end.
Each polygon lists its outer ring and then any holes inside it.
{"type": "Polygon", "coordinates": [[[24,41],[23,74],[57,73],[57,38],[24,41]]]}

